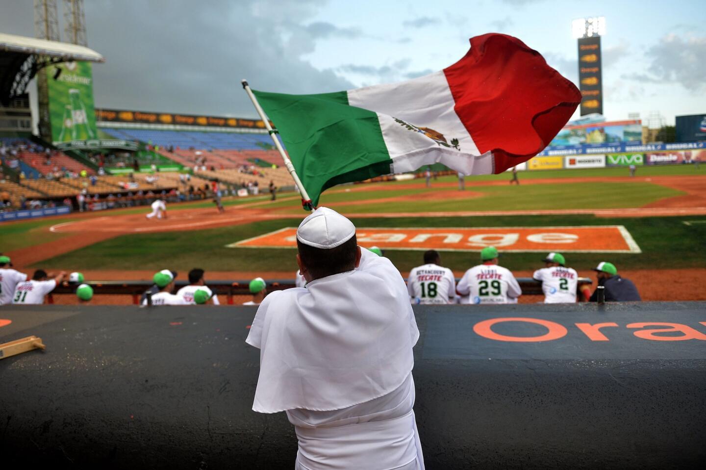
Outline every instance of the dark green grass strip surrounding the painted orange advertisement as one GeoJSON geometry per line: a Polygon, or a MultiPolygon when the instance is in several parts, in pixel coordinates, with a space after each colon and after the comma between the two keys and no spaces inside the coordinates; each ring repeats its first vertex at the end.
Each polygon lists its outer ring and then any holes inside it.
{"type": "MultiPolygon", "coordinates": [[[[695,217],[687,217],[695,219],[695,217]]],[[[660,269],[706,267],[706,224],[684,225],[684,217],[595,218],[593,216],[513,216],[449,218],[354,219],[359,227],[503,227],[561,225],[625,225],[642,249],[642,254],[567,253],[570,266],[584,274],[600,261],[614,262],[618,269],[660,269]]],[[[698,219],[698,218],[697,218],[698,219]]],[[[703,218],[701,218],[703,219],[703,218]]],[[[198,232],[124,235],[84,249],[47,259],[35,267],[45,269],[152,269],[168,267],[188,271],[202,267],[214,271],[292,271],[296,269],[294,249],[227,248],[256,235],[296,226],[297,221],[263,221],[249,225],[213,228],[198,232]]],[[[476,252],[442,252],[445,266],[465,270],[478,261],[476,252]]],[[[421,264],[421,252],[388,250],[401,271],[421,264]]],[[[509,269],[541,267],[537,253],[503,254],[501,264],[509,269]]]]}

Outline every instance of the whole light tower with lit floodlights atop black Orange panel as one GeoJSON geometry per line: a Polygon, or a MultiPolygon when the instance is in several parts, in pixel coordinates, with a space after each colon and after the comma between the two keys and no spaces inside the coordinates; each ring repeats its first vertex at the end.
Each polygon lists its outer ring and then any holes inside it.
{"type": "Polygon", "coordinates": [[[578,81],[581,90],[581,115],[603,114],[603,72],[601,36],[606,33],[606,18],[578,18],[571,23],[578,39],[578,81]]]}

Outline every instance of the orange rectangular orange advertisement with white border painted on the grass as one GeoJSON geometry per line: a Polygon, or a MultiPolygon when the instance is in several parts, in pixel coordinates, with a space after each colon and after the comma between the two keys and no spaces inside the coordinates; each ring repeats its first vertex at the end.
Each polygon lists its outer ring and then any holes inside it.
{"type": "MultiPolygon", "coordinates": [[[[383,249],[478,252],[640,253],[623,225],[570,227],[358,228],[358,243],[383,249]]],[[[297,228],[287,227],[226,245],[231,248],[294,248],[297,228]]]]}

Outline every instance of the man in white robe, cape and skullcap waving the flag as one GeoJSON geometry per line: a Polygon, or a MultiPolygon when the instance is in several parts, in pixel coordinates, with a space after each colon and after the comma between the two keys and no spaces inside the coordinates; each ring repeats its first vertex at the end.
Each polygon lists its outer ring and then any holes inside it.
{"type": "Polygon", "coordinates": [[[246,339],[261,350],[253,410],[287,412],[295,469],[424,469],[407,286],[389,259],[357,245],[355,230],[325,207],[299,225],[306,288],[265,297],[246,339]]]}

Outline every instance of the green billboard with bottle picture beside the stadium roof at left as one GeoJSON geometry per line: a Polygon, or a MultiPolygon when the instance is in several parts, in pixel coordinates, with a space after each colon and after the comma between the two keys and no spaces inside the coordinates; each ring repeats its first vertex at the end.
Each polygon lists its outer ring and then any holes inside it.
{"type": "Polygon", "coordinates": [[[56,64],[46,73],[54,145],[96,139],[90,62],[56,64]]]}

